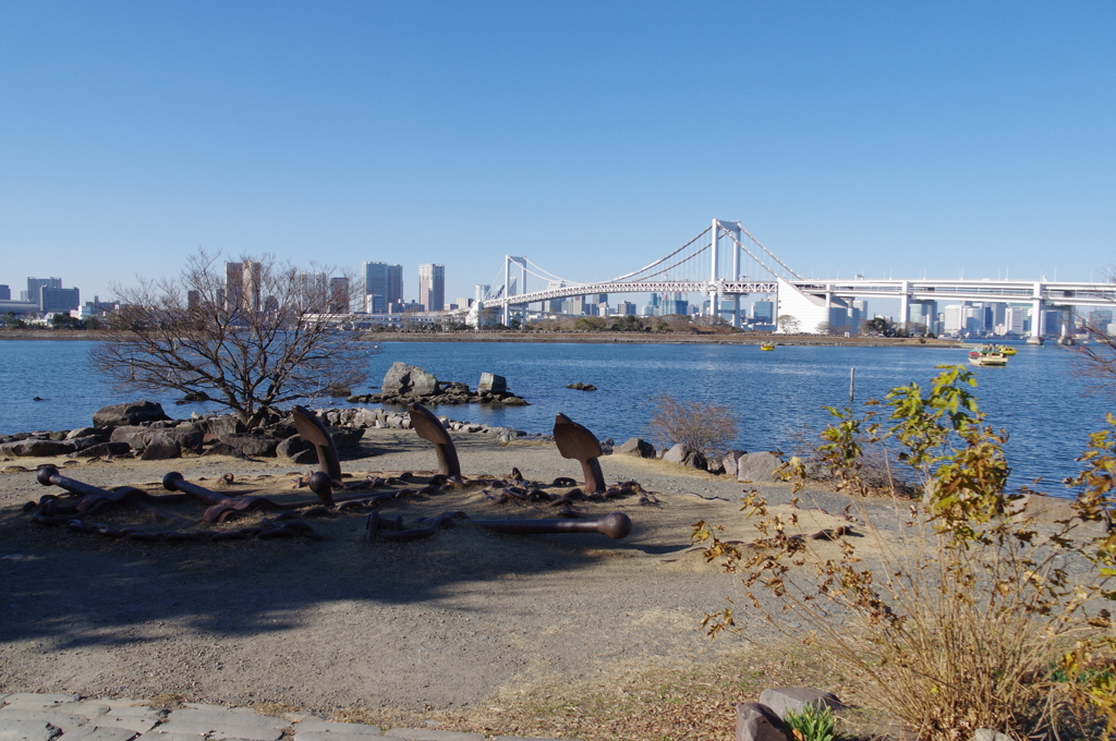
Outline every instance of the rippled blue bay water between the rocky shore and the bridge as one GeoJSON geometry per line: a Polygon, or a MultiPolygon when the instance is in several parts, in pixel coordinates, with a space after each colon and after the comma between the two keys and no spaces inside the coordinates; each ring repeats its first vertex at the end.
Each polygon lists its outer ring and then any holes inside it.
{"type": "MultiPolygon", "coordinates": [[[[87,365],[93,343],[0,341],[0,433],[65,430],[90,424],[106,404],[131,401],[135,393],[115,392],[87,365]],[[45,401],[33,402],[35,396],[45,401]]],[[[882,398],[892,387],[926,384],[934,366],[965,362],[961,349],[915,347],[778,347],[730,345],[577,345],[395,343],[379,346],[368,360],[378,384],[395,360],[417,365],[442,381],[475,387],[480,374],[508,378],[513,392],[531,406],[493,410],[442,407],[440,413],[526,430],[549,432],[562,412],[597,436],[622,442],[646,435],[646,423],[660,394],[724,404],[740,421],[737,446],[791,452],[802,436],[816,437],[826,424],[824,405],[848,403],[849,368],[856,368],[856,395],[882,398]],[[568,389],[591,383],[599,391],[568,389]]],[[[1080,366],[1064,348],[1019,346],[1006,368],[972,368],[981,407],[995,426],[1011,434],[1007,446],[1014,484],[1042,477],[1051,492],[1076,470],[1074,459],[1089,432],[1116,411],[1112,396],[1089,395],[1080,366]]],[[[364,391],[364,389],[356,389],[364,391]]],[[[205,405],[176,406],[173,396],[155,398],[172,416],[206,411],[205,405]]],[[[311,406],[324,406],[318,400],[311,406]]],[[[345,404],[341,400],[341,404],[345,404]]]]}

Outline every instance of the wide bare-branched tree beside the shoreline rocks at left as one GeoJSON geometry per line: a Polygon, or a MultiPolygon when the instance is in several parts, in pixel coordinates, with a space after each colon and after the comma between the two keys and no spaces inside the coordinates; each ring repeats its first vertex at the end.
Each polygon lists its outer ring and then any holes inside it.
{"type": "Polygon", "coordinates": [[[271,256],[219,257],[200,250],[176,278],[117,288],[94,366],[119,388],[224,404],[249,429],[272,405],[365,379],[374,350],[352,330],[357,280],[271,256]]]}

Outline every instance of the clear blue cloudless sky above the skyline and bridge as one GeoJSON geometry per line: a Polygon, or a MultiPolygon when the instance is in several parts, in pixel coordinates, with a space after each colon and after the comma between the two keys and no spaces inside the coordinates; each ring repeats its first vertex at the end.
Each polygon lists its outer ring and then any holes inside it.
{"type": "MultiPolygon", "coordinates": [[[[202,246],[596,280],[718,216],[806,276],[1099,279],[1116,3],[0,1],[0,283],[202,246]]],[[[18,296],[18,293],[17,293],[18,296]]]]}

